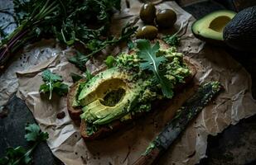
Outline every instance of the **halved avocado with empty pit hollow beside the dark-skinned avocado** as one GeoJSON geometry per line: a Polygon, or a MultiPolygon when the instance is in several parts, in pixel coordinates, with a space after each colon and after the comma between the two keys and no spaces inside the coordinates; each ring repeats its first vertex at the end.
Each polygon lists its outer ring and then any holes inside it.
{"type": "Polygon", "coordinates": [[[192,32],[200,40],[222,44],[224,43],[223,30],[225,25],[231,21],[235,14],[235,12],[228,10],[211,12],[193,23],[192,32]]]}

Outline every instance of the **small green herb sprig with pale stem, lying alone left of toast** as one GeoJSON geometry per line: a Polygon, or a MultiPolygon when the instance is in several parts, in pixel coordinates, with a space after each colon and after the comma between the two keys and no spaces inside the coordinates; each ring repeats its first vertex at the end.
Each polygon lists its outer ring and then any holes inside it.
{"type": "Polygon", "coordinates": [[[49,92],[49,100],[51,100],[52,92],[56,92],[59,96],[63,96],[68,92],[68,85],[62,83],[63,79],[59,75],[51,73],[50,70],[46,69],[41,78],[45,83],[40,86],[39,92],[49,92]]]}

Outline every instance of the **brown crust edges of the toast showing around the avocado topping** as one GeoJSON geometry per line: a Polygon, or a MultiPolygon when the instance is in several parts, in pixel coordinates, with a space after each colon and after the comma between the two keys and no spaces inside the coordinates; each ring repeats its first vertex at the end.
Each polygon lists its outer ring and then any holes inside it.
{"type": "MultiPolygon", "coordinates": [[[[163,48],[167,48],[168,46],[163,44],[162,42],[160,42],[161,45],[163,45],[163,48]]],[[[181,90],[183,90],[190,82],[192,82],[193,78],[196,75],[196,66],[194,64],[191,64],[191,62],[186,59],[183,58],[184,62],[186,63],[187,67],[190,69],[191,74],[185,78],[185,83],[182,84],[178,84],[176,85],[176,88],[174,89],[175,92],[179,92],[181,90]]],[[[74,85],[72,85],[70,87],[70,92],[68,94],[68,98],[67,98],[67,106],[68,106],[68,110],[70,113],[70,117],[73,120],[80,120],[80,114],[82,113],[81,109],[75,109],[74,107],[72,107],[72,99],[75,96],[75,91],[76,88],[78,87],[78,84],[80,82],[85,81],[85,79],[80,80],[79,82],[76,82],[74,85]]],[[[170,100],[169,100],[170,101],[170,100]]],[[[152,109],[154,109],[154,106],[157,107],[157,105],[163,105],[162,101],[155,101],[154,105],[152,106],[152,109]]],[[[132,118],[129,120],[125,120],[123,122],[121,122],[120,120],[114,120],[112,121],[109,125],[106,126],[102,126],[101,128],[99,128],[99,130],[97,130],[94,134],[90,134],[88,135],[86,133],[86,123],[85,120],[80,120],[80,133],[83,139],[85,140],[94,140],[94,139],[102,139],[106,136],[108,136],[109,134],[112,134],[114,132],[116,132],[117,130],[120,130],[121,128],[123,128],[125,125],[127,125],[128,123],[132,122],[133,120],[137,119],[138,117],[145,115],[147,112],[142,112],[142,113],[135,113],[135,115],[132,115],[132,118]]]]}

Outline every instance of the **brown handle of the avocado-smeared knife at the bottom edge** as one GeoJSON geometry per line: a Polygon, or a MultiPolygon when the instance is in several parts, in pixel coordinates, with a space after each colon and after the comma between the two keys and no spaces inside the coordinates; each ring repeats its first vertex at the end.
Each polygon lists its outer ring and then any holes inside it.
{"type": "Polygon", "coordinates": [[[133,165],[151,165],[155,163],[161,153],[161,148],[152,148],[149,153],[147,153],[146,155],[142,155],[140,158],[138,158],[137,161],[133,163],[133,165]]]}

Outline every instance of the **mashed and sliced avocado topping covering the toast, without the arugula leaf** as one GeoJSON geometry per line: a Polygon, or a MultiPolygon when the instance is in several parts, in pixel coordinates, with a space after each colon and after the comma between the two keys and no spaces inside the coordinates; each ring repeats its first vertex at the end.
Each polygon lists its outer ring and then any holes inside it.
{"type": "MultiPolygon", "coordinates": [[[[159,70],[173,89],[177,83],[184,82],[190,70],[183,62],[183,54],[176,52],[175,47],[159,49],[157,57],[160,56],[167,60],[159,65],[159,70]]],[[[136,113],[150,111],[152,101],[165,98],[155,75],[142,70],[141,63],[137,50],[120,54],[114,68],[80,84],[73,106],[82,107],[84,113],[80,117],[86,121],[87,134],[93,134],[114,120],[128,120],[136,113]]]]}

